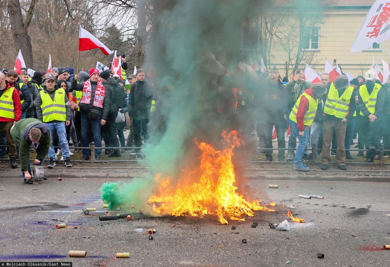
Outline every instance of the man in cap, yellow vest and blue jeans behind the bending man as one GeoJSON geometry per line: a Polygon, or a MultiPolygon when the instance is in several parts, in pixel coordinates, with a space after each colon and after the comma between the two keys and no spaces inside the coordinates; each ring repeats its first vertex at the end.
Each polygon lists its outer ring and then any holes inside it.
{"type": "Polygon", "coordinates": [[[43,121],[50,130],[51,144],[49,148],[50,163],[48,168],[56,166],[53,136],[58,135],[58,143],[61,146],[65,166],[72,167],[69,160],[69,144],[66,136],[66,125],[70,125],[72,110],[69,99],[64,89],[58,88],[53,73],[46,73],[43,77],[44,87],[35,102],[37,118],[43,121]]]}

